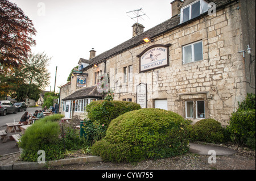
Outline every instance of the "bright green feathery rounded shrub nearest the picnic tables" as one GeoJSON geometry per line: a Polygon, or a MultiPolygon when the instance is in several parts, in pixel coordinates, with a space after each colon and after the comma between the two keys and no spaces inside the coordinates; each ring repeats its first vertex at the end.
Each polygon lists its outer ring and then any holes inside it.
{"type": "Polygon", "coordinates": [[[19,146],[24,150],[38,151],[43,145],[55,144],[59,138],[59,123],[38,120],[27,128],[19,146]]]}

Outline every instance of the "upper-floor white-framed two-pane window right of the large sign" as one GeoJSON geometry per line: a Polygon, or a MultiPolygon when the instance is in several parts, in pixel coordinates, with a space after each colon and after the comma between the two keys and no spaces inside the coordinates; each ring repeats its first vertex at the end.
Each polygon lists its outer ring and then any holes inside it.
{"type": "Polygon", "coordinates": [[[197,41],[182,47],[183,64],[203,60],[203,42],[197,41]]]}

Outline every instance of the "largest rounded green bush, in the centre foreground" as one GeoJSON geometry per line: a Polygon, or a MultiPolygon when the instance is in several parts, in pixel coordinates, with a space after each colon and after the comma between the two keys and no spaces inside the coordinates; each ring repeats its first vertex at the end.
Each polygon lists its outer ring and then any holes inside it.
{"type": "Polygon", "coordinates": [[[106,136],[92,146],[105,161],[135,162],[188,151],[187,122],[177,113],[145,108],[112,120],[106,136]]]}

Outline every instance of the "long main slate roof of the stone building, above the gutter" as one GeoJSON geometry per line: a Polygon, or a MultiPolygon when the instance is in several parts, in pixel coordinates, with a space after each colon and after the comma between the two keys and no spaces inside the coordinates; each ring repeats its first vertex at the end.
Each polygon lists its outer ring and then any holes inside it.
{"type": "MultiPolygon", "coordinates": [[[[208,2],[214,2],[216,4],[216,8],[220,8],[222,6],[226,6],[231,2],[236,2],[236,0],[212,0],[212,1],[208,1],[208,2]]],[[[198,16],[201,17],[202,15],[198,16]]],[[[197,17],[197,18],[198,18],[197,17]]],[[[193,20],[188,20],[185,23],[189,23],[193,20]]],[[[91,68],[94,64],[99,64],[101,62],[104,62],[104,60],[115,56],[116,54],[119,54],[125,50],[131,49],[133,47],[137,47],[139,44],[144,43],[143,39],[145,37],[150,37],[151,39],[154,39],[154,37],[157,37],[159,35],[162,35],[163,33],[166,33],[168,31],[171,31],[173,28],[176,28],[178,26],[183,26],[182,23],[180,24],[180,15],[174,16],[168,20],[166,20],[163,23],[158,24],[157,26],[151,28],[150,30],[147,30],[137,36],[134,36],[133,38],[123,42],[122,44],[117,45],[116,47],[107,50],[104,53],[99,54],[98,56],[92,58],[90,60],[90,64],[88,66],[86,66],[86,68],[84,68],[83,70],[87,70],[89,68],[91,68]]]]}

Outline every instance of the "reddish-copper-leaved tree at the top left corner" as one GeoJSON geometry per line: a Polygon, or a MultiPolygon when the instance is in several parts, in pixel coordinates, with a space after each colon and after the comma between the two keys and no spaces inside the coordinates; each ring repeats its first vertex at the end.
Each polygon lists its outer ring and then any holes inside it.
{"type": "Polygon", "coordinates": [[[0,65],[18,67],[26,62],[36,30],[32,20],[7,0],[0,1],[0,65]]]}

